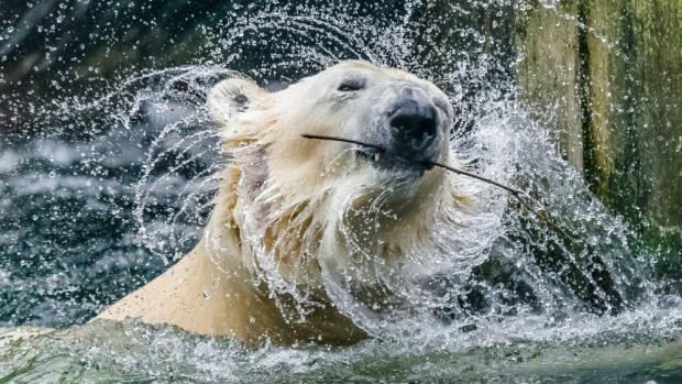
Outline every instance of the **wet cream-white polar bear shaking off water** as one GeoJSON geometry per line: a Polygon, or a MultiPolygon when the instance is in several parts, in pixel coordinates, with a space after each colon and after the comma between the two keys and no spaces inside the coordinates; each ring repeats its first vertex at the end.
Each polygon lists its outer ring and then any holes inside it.
{"type": "Polygon", "coordinates": [[[326,278],[371,297],[374,275],[354,261],[371,254],[399,262],[443,220],[439,207],[463,204],[444,171],[428,165],[453,160],[448,97],[406,72],[351,61],[276,92],[223,80],[208,109],[232,161],[202,239],[98,318],[139,318],[252,345],[367,337],[330,300],[326,278]],[[287,308],[301,292],[314,305],[293,319],[287,308]]]}

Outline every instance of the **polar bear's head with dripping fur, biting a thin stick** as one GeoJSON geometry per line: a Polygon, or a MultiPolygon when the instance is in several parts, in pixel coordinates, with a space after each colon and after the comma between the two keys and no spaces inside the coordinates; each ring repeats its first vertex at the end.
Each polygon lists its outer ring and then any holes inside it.
{"type": "Polygon", "coordinates": [[[342,62],[276,92],[232,78],[208,107],[232,162],[207,235],[221,239],[216,254],[240,255],[249,270],[296,286],[362,279],[349,273],[353,261],[400,260],[447,220],[443,206],[459,204],[449,176],[429,165],[453,161],[452,107],[406,72],[342,62]]]}

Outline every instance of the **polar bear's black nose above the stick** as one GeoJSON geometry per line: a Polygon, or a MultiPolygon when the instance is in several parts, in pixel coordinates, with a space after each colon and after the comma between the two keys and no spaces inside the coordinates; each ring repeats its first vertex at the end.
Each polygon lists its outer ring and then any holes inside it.
{"type": "Polygon", "coordinates": [[[413,150],[430,145],[438,134],[436,108],[416,100],[406,100],[396,107],[389,117],[396,140],[413,150]]]}

